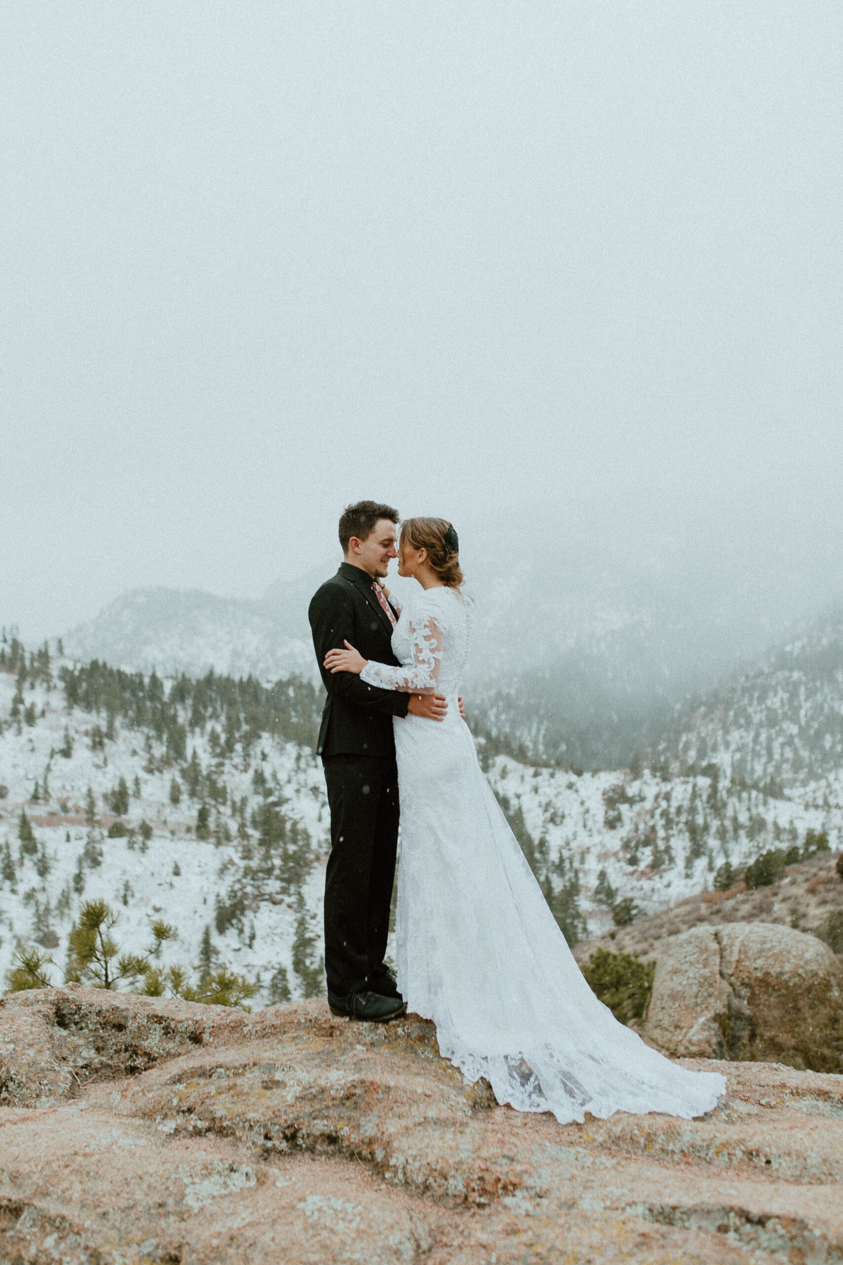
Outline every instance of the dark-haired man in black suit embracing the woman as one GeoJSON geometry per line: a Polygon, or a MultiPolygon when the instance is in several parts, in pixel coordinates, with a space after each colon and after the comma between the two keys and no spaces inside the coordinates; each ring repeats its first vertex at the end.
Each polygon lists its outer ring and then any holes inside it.
{"type": "Polygon", "coordinates": [[[404,1003],[384,963],[398,842],[398,770],[392,717],[444,720],[444,694],[407,694],[367,686],[351,672],[332,676],[329,650],[348,640],[365,659],[396,665],[397,612],[378,579],[397,558],[398,512],[359,501],[340,519],[343,563],[313,595],[308,619],[327,700],[316,754],[322,756],[331,810],[325,874],[325,973],[331,1013],[385,1021],[404,1003]]]}

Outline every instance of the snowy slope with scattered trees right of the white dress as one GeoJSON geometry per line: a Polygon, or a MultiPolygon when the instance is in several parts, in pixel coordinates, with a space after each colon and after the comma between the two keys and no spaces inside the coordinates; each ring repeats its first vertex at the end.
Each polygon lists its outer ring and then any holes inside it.
{"type": "Polygon", "coordinates": [[[567,917],[578,939],[610,930],[624,898],[633,916],[656,913],[712,888],[724,861],[742,870],[771,849],[803,849],[809,831],[843,846],[840,770],[787,798],[715,775],[575,777],[506,756],[488,777],[557,920],[567,917]]]}

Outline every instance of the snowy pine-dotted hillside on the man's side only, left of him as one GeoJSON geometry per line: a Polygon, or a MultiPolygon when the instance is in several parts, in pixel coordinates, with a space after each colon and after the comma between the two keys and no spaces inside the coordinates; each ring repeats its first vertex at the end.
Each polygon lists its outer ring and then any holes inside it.
{"type": "MultiPolygon", "coordinates": [[[[164,732],[155,713],[155,678],[133,717],[115,706],[107,679],[97,693],[90,676],[81,688],[72,678],[81,706],[68,707],[56,678],[62,665],[70,667],[53,660],[52,682],[25,682],[16,706],[15,677],[0,672],[0,975],[20,944],[38,942],[52,950],[59,979],[80,903],[102,898],[120,915],[115,937],[126,951],[142,951],[150,920],[162,918],[178,930],[162,965],[195,966],[210,929],[214,961],[258,982],[258,1003],[287,988],[312,992],[321,974],[326,801],[310,746],[289,737],[313,731],[312,687],[284,687],[286,716],[283,700],[269,708],[258,700],[231,745],[233,700],[220,715],[200,684],[173,705],[183,720],[207,708],[188,760],[183,726],[164,732]],[[260,729],[260,707],[264,716],[274,711],[276,732],[260,729]],[[110,796],[120,779],[128,807],[118,818],[110,796]],[[197,837],[202,806],[209,822],[198,834],[207,837],[197,837]],[[20,839],[21,812],[34,844],[20,839]],[[128,835],[109,836],[115,820],[128,835]]],[[[144,689],[138,678],[123,684],[124,697],[144,689]]]]}

